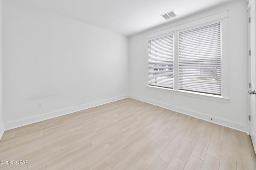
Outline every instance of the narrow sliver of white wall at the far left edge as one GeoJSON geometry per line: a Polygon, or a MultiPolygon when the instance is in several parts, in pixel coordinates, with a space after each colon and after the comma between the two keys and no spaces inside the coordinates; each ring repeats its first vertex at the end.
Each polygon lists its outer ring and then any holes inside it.
{"type": "Polygon", "coordinates": [[[4,134],[2,92],[2,0],[0,0],[0,139],[4,134]]]}

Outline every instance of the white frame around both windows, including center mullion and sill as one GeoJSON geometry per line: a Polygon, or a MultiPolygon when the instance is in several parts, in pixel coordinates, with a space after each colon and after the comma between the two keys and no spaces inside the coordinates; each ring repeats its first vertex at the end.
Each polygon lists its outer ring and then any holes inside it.
{"type": "Polygon", "coordinates": [[[196,20],[187,21],[182,24],[168,27],[160,31],[149,33],[146,35],[146,57],[147,57],[147,83],[146,88],[149,90],[157,90],[160,92],[167,92],[178,94],[182,96],[189,96],[195,98],[202,98],[217,102],[228,103],[228,10],[218,12],[209,16],[205,16],[196,20]],[[189,29],[210,25],[212,23],[221,23],[221,96],[214,94],[205,94],[201,92],[190,92],[186,90],[179,90],[179,55],[178,55],[178,33],[189,29]],[[174,34],[174,88],[163,88],[148,85],[148,39],[161,37],[168,34],[174,34]]]}

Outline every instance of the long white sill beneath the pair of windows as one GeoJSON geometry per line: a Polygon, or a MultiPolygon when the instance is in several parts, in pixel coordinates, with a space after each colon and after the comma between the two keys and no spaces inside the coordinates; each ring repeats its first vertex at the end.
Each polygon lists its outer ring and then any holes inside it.
{"type": "Polygon", "coordinates": [[[213,94],[204,94],[204,93],[197,93],[197,92],[189,92],[185,90],[173,90],[169,88],[162,88],[162,87],[156,87],[156,86],[146,86],[147,89],[150,90],[157,90],[160,92],[166,92],[166,93],[172,93],[172,94],[178,94],[182,96],[189,96],[193,98],[200,98],[205,100],[212,100],[216,102],[222,102],[222,103],[228,103],[228,98],[224,98],[222,96],[216,96],[213,94]]]}

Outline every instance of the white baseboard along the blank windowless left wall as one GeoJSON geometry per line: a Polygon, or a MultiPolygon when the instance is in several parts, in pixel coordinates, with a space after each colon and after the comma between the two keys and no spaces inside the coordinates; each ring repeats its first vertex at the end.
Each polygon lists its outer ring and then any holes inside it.
{"type": "Polygon", "coordinates": [[[17,120],[17,121],[4,123],[4,128],[3,129],[4,130],[14,129],[16,127],[21,127],[21,126],[24,126],[24,125],[29,125],[31,123],[36,123],[36,122],[39,122],[39,121],[43,121],[43,120],[46,120],[46,119],[51,119],[51,118],[66,115],[66,114],[69,114],[69,113],[74,113],[76,111],[88,109],[88,108],[95,107],[95,106],[100,106],[102,104],[107,104],[107,103],[114,102],[114,101],[121,100],[121,99],[128,98],[128,97],[129,97],[129,95],[126,94],[126,95],[123,95],[123,96],[117,96],[117,97],[109,98],[109,99],[106,99],[106,100],[100,100],[100,101],[97,101],[97,102],[92,102],[92,103],[84,104],[84,105],[81,105],[81,106],[71,107],[71,108],[67,108],[67,109],[63,109],[63,110],[58,110],[58,111],[53,111],[53,112],[50,112],[50,113],[45,113],[43,115],[37,115],[37,116],[34,116],[34,117],[28,117],[28,118],[25,118],[25,119],[20,119],[20,120],[17,120]]]}

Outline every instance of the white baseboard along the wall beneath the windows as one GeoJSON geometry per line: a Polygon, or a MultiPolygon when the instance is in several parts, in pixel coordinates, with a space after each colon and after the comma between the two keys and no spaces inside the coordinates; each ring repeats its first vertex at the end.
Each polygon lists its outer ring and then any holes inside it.
{"type": "Polygon", "coordinates": [[[242,125],[240,123],[236,123],[236,122],[233,122],[233,121],[229,121],[229,120],[221,119],[221,118],[218,118],[218,117],[206,115],[204,113],[199,113],[199,112],[196,112],[196,111],[184,109],[184,108],[177,107],[177,106],[172,106],[172,105],[169,105],[169,104],[164,104],[162,102],[157,102],[157,101],[154,101],[154,100],[142,98],[140,96],[135,96],[135,95],[132,95],[132,94],[130,94],[130,98],[140,100],[142,102],[146,102],[146,103],[149,103],[149,104],[153,104],[155,106],[160,106],[160,107],[163,107],[163,108],[166,108],[166,109],[169,109],[169,110],[177,111],[179,113],[183,113],[185,115],[190,115],[192,117],[203,119],[205,121],[216,123],[218,125],[222,125],[222,126],[225,126],[225,127],[230,127],[232,129],[236,129],[238,131],[242,131],[242,132],[245,132],[245,133],[249,134],[248,125],[242,125]],[[212,121],[211,121],[211,118],[212,118],[212,121]]]}

